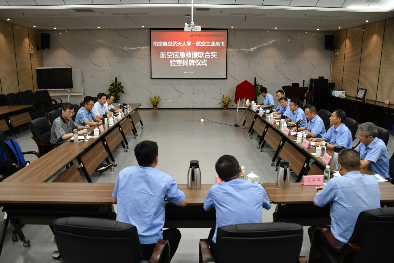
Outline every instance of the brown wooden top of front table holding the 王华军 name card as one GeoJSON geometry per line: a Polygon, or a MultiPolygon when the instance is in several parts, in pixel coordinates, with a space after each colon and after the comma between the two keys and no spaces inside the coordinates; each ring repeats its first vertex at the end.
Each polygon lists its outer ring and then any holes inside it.
{"type": "MultiPolygon", "coordinates": [[[[276,204],[304,204],[313,203],[316,194],[316,186],[304,187],[301,183],[290,183],[289,188],[276,187],[275,183],[263,183],[272,203],[276,204]]],[[[382,202],[394,202],[394,185],[381,182],[380,200],[382,202]]]]}

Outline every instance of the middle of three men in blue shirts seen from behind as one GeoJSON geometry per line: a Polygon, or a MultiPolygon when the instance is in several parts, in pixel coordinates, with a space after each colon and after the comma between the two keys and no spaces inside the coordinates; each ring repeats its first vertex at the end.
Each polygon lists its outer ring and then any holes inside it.
{"type": "Polygon", "coordinates": [[[208,236],[211,252],[215,252],[216,231],[221,226],[261,223],[262,208],[270,209],[266,190],[258,183],[241,178],[241,166],[231,155],[223,155],[215,164],[222,184],[213,185],[204,200],[204,210],[216,209],[216,227],[208,236]]]}

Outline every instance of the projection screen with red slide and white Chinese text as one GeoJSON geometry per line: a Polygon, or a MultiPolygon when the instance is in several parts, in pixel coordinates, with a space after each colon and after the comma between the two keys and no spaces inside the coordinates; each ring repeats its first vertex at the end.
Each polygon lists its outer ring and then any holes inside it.
{"type": "Polygon", "coordinates": [[[151,78],[227,78],[227,30],[151,30],[151,78]]]}

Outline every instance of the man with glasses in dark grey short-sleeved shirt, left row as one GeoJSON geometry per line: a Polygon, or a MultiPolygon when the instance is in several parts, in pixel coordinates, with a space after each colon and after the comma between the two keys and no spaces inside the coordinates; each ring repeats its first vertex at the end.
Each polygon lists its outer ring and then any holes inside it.
{"type": "Polygon", "coordinates": [[[61,115],[53,121],[52,131],[50,133],[50,143],[59,144],[71,139],[72,130],[77,129],[78,134],[84,134],[84,129],[88,129],[89,125],[81,126],[75,124],[71,119],[74,115],[74,106],[71,103],[64,103],[61,106],[61,115]]]}

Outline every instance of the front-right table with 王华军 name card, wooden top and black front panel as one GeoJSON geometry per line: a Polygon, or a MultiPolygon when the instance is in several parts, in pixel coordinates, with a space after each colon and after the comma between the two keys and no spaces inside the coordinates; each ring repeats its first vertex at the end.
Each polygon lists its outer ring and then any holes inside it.
{"type": "MultiPolygon", "coordinates": [[[[275,183],[263,183],[263,187],[272,203],[277,204],[273,213],[274,222],[305,226],[331,224],[330,205],[316,207],[313,204],[316,186],[304,187],[301,183],[290,183],[289,188],[279,188],[275,183]]],[[[379,188],[381,204],[394,203],[394,185],[380,182],[379,188]]]]}

